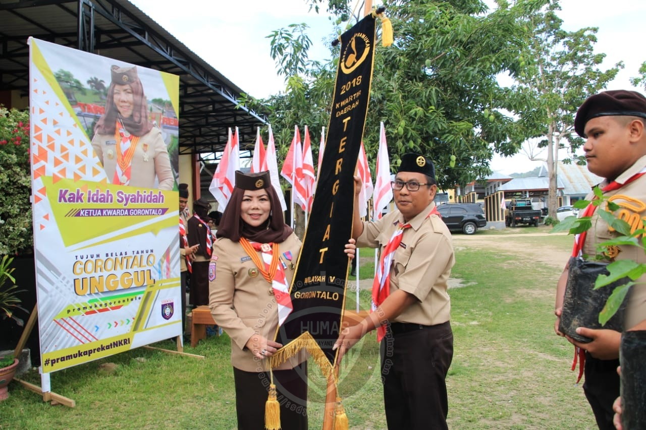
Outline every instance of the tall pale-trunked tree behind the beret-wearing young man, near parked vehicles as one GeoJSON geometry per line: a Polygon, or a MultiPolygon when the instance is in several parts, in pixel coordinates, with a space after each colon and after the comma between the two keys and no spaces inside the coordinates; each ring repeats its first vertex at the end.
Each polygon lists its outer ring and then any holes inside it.
{"type": "MultiPolygon", "coordinates": [[[[511,103],[519,116],[512,141],[521,145],[528,138],[541,139],[547,147],[550,187],[548,213],[556,216],[556,165],[559,148],[566,144],[574,152],[583,139],[574,133],[574,116],[583,101],[606,87],[623,63],[601,70],[605,54],[594,52],[597,28],[567,32],[557,17],[557,2],[530,15],[526,21],[523,50],[512,65],[516,84],[511,103]]],[[[581,163],[580,158],[568,159],[581,163]]]]}

